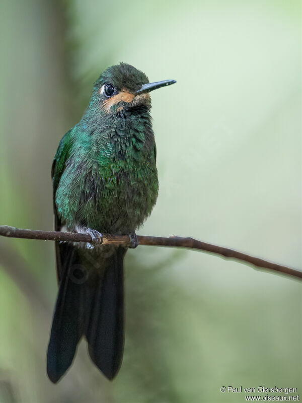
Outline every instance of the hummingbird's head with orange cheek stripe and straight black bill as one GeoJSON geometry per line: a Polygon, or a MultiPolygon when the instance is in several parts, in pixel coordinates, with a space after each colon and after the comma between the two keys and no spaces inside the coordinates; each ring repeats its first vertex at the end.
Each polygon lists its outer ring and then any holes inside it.
{"type": "Polygon", "coordinates": [[[174,83],[175,80],[149,83],[140,70],[120,63],[100,75],[94,85],[94,96],[105,113],[118,113],[137,106],[150,107],[149,92],[174,83]]]}

